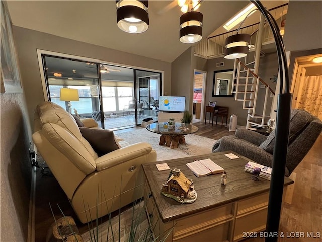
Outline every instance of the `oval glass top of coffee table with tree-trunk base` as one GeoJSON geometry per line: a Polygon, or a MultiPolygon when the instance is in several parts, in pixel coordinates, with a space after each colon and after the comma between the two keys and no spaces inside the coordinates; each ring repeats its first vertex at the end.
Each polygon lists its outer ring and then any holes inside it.
{"type": "Polygon", "coordinates": [[[165,123],[152,123],[146,126],[148,131],[163,134],[163,135],[188,135],[198,131],[198,127],[189,124],[185,127],[180,127],[180,123],[176,123],[174,129],[168,129],[167,122],[165,123]]]}

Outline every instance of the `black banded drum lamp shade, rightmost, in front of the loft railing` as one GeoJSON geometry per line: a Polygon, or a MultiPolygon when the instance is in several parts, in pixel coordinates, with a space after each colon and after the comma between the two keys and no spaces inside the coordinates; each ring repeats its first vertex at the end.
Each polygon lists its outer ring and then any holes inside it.
{"type": "Polygon", "coordinates": [[[249,34],[235,34],[226,38],[225,59],[243,58],[248,54],[248,45],[251,41],[249,34]]]}

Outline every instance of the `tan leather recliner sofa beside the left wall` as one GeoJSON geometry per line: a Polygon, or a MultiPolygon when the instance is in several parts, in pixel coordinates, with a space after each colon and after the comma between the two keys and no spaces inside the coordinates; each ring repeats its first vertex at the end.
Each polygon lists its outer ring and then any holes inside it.
{"type": "MultiPolygon", "coordinates": [[[[82,122],[100,129],[92,118],[82,122]]],[[[156,151],[148,143],[130,145],[115,137],[121,148],[98,157],[71,114],[52,102],[36,108],[33,142],[82,223],[143,196],[141,164],[155,162],[156,151]]]]}

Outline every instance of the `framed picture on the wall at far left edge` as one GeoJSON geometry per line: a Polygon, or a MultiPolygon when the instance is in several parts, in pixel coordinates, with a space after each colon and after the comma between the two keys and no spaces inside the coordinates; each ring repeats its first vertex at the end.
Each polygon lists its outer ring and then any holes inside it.
{"type": "Polygon", "coordinates": [[[1,1],[1,92],[23,92],[8,8],[1,1]]]}

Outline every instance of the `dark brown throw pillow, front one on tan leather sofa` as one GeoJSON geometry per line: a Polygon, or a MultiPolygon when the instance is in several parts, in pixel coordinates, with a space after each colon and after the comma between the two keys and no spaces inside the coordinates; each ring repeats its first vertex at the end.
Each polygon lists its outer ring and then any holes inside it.
{"type": "Polygon", "coordinates": [[[82,136],[90,143],[98,156],[105,155],[121,148],[113,131],[79,127],[82,136]]]}

